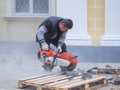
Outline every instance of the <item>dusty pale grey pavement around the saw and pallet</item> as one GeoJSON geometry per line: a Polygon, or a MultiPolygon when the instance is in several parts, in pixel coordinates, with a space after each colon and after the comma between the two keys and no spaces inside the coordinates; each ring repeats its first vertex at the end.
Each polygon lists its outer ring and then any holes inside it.
{"type": "MultiPolygon", "coordinates": [[[[79,63],[76,69],[87,70],[94,66],[104,67],[106,64],[120,66],[119,63],[79,63]]],[[[53,72],[46,72],[36,55],[0,55],[0,90],[21,90],[18,89],[19,79],[59,72],[59,67],[55,67],[53,72]]],[[[28,87],[22,90],[35,88],[28,87]]]]}

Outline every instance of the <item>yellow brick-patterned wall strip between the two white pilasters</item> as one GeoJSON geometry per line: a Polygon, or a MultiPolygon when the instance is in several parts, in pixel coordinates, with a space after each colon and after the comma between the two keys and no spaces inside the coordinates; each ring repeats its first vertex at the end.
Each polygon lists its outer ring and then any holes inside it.
{"type": "Polygon", "coordinates": [[[105,29],[105,0],[87,0],[87,28],[93,45],[100,45],[105,29]]]}

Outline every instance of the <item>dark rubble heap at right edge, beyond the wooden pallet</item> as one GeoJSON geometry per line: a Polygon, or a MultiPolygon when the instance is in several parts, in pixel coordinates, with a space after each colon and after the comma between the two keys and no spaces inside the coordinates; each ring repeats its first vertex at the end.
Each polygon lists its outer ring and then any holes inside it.
{"type": "Polygon", "coordinates": [[[105,74],[107,76],[107,82],[114,85],[120,85],[120,67],[113,68],[110,65],[105,67],[93,67],[87,70],[87,73],[91,74],[105,74]]]}

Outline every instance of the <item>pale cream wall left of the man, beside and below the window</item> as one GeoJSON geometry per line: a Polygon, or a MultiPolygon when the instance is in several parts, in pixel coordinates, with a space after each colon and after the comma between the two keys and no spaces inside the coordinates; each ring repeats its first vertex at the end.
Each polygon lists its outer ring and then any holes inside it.
{"type": "Polygon", "coordinates": [[[43,19],[5,18],[7,0],[0,1],[0,41],[34,41],[36,29],[43,19]]]}

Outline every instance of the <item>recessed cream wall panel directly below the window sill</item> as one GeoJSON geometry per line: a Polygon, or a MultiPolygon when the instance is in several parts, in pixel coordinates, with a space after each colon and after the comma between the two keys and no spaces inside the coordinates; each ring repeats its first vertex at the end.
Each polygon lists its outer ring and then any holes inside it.
{"type": "Polygon", "coordinates": [[[34,41],[41,20],[9,20],[9,41],[34,41]]]}

